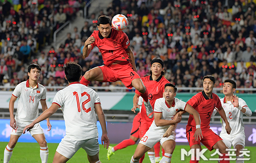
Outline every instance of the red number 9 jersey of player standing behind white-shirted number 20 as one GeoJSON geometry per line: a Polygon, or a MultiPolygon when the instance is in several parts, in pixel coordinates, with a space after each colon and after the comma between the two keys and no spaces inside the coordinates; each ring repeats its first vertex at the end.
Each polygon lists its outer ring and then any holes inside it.
{"type": "MultiPolygon", "coordinates": [[[[150,100],[150,104],[154,110],[156,99],[163,97],[164,85],[170,82],[167,79],[165,79],[162,75],[156,81],[153,81],[151,75],[142,77],[141,80],[148,90],[148,99],[150,100]]],[[[135,93],[139,94],[138,90],[135,90],[135,93]]],[[[140,119],[147,120],[150,122],[153,122],[154,120],[154,118],[148,118],[144,103],[142,103],[142,108],[139,117],[140,119]]]]}

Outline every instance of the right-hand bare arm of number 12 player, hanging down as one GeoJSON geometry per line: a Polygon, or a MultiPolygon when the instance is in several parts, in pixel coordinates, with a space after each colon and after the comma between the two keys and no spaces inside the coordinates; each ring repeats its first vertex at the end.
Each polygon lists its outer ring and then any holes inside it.
{"type": "Polygon", "coordinates": [[[107,135],[108,132],[107,132],[107,128],[106,128],[106,120],[105,120],[104,112],[103,112],[100,104],[94,104],[94,109],[96,111],[96,114],[98,115],[100,126],[102,128],[101,143],[102,143],[102,145],[104,144],[104,148],[106,147],[108,149],[109,139],[108,139],[108,135],[107,135]]]}

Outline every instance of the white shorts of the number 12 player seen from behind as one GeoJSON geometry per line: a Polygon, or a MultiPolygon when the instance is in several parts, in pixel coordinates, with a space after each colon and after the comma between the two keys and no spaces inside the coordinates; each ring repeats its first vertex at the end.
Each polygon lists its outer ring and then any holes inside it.
{"type": "Polygon", "coordinates": [[[96,155],[100,151],[98,137],[75,141],[70,139],[68,136],[64,136],[64,138],[60,141],[56,152],[70,159],[80,148],[83,148],[89,156],[96,155]]]}

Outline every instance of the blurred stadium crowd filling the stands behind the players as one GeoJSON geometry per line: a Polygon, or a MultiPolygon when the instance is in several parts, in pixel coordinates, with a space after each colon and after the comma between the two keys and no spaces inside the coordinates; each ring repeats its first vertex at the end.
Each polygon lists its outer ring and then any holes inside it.
{"type": "MultiPolygon", "coordinates": [[[[4,0],[0,10],[1,84],[17,85],[25,81],[28,77],[23,65],[29,61],[42,67],[39,82],[45,86],[67,85],[62,67],[69,61],[81,65],[83,75],[103,64],[96,47],[86,59],[82,56],[84,41],[97,30],[96,14],[86,19],[81,31],[74,27],[57,49],[52,47],[48,53],[42,52],[31,60],[36,51],[50,43],[51,37],[43,36],[51,35],[70,19],[78,6],[74,0],[18,2],[12,0],[8,4],[4,0]]],[[[149,72],[150,61],[160,57],[165,63],[165,78],[177,87],[202,87],[202,77],[213,75],[216,87],[232,79],[237,88],[253,88],[256,87],[255,11],[256,0],[113,0],[107,13],[100,11],[99,15],[112,18],[124,14],[128,18],[129,26],[124,32],[130,39],[141,77],[149,72]]],[[[122,86],[122,83],[93,81],[89,85],[122,86]]]]}

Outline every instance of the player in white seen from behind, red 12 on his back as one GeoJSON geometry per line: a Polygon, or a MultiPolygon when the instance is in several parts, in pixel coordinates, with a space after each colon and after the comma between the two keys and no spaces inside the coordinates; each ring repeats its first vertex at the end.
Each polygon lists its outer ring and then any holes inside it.
{"type": "Polygon", "coordinates": [[[90,163],[100,163],[97,119],[102,127],[102,144],[108,148],[109,139],[106,121],[100,105],[98,94],[80,84],[82,68],[75,62],[69,62],[64,67],[68,86],[58,91],[52,101],[52,106],[43,112],[36,120],[26,126],[23,133],[33,130],[33,127],[62,108],[66,126],[66,136],[61,140],[53,158],[53,163],[66,163],[78,149],[83,148],[90,163]],[[96,112],[96,114],[95,114],[96,112]]]}

